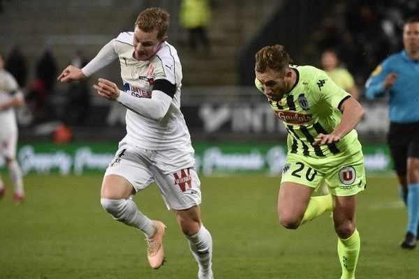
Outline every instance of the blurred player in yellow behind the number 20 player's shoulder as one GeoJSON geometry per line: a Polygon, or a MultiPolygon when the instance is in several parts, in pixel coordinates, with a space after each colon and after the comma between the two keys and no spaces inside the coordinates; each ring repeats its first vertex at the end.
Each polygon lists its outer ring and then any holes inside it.
{"type": "Polygon", "coordinates": [[[321,55],[321,67],[328,76],[344,91],[351,94],[355,100],[359,98],[358,88],[351,73],[341,66],[335,50],[325,50],[321,55]]]}

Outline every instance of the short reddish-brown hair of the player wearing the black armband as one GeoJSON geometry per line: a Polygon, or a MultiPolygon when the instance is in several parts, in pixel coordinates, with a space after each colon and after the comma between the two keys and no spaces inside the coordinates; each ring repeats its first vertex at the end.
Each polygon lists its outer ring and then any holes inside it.
{"type": "Polygon", "coordinates": [[[147,8],[138,15],[135,27],[147,33],[157,29],[157,38],[162,39],[169,28],[170,15],[161,8],[147,8]]]}

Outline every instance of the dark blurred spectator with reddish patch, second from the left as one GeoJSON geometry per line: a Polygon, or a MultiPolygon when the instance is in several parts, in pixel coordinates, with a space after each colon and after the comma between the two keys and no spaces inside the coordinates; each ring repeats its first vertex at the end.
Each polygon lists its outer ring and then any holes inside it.
{"type": "Polygon", "coordinates": [[[47,99],[54,89],[57,77],[57,63],[52,51],[47,49],[36,62],[35,78],[29,86],[27,103],[34,114],[34,121],[48,117],[47,99]]]}

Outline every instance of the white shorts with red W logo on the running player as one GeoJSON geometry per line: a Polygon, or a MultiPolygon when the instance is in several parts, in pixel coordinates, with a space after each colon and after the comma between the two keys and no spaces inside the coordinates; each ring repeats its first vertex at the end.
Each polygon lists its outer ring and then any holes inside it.
{"type": "Polygon", "coordinates": [[[168,209],[189,209],[201,203],[200,180],[192,146],[153,151],[119,142],[105,176],[117,174],[128,180],[135,192],[156,181],[168,209]]]}

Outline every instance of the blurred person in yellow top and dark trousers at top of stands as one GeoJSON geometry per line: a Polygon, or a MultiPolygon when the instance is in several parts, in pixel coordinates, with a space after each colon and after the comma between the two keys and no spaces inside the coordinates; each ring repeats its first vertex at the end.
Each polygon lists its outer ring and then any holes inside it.
{"type": "Polygon", "coordinates": [[[198,50],[198,44],[207,52],[211,49],[207,27],[211,20],[209,0],[182,0],[180,3],[179,21],[188,31],[188,46],[191,51],[198,50]]]}

